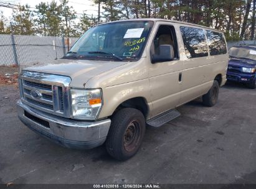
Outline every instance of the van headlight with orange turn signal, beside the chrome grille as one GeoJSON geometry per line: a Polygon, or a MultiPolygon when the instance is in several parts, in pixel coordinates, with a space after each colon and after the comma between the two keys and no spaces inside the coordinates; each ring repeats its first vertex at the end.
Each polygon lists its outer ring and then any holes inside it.
{"type": "Polygon", "coordinates": [[[102,90],[71,89],[72,116],[74,119],[96,119],[102,107],[102,90]]]}

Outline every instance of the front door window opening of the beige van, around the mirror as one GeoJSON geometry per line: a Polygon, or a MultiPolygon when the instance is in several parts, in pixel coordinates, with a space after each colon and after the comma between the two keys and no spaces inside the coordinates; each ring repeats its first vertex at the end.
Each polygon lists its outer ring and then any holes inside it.
{"type": "Polygon", "coordinates": [[[174,27],[171,25],[160,25],[158,32],[154,37],[154,44],[152,51],[154,54],[159,55],[159,46],[160,45],[172,45],[174,49],[174,57],[179,58],[178,54],[178,45],[174,27]]]}

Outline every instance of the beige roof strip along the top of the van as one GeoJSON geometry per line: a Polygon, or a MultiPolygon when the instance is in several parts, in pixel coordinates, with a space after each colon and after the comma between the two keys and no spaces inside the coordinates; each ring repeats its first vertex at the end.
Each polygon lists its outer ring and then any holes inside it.
{"type": "Polygon", "coordinates": [[[126,19],[126,20],[119,20],[119,21],[112,21],[112,22],[107,22],[107,23],[104,23],[104,24],[108,24],[108,23],[113,23],[113,22],[128,22],[128,21],[154,21],[154,22],[157,22],[157,21],[164,21],[164,22],[173,22],[173,23],[179,23],[179,24],[186,24],[186,25],[194,25],[196,27],[202,27],[204,29],[210,29],[210,30],[215,30],[217,32],[221,32],[223,33],[222,31],[220,30],[217,30],[217,29],[213,29],[211,27],[206,27],[204,25],[198,25],[198,24],[191,24],[189,22],[181,22],[181,21],[174,21],[174,20],[168,20],[168,19],[126,19]]]}

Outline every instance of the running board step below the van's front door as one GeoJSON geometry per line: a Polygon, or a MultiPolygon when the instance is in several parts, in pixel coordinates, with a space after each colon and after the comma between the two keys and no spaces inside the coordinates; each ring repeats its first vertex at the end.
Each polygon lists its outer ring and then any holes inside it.
{"type": "Polygon", "coordinates": [[[178,118],[180,115],[181,113],[179,113],[176,109],[170,109],[152,119],[149,119],[146,123],[152,127],[160,127],[163,126],[163,124],[166,124],[166,122],[178,118]]]}

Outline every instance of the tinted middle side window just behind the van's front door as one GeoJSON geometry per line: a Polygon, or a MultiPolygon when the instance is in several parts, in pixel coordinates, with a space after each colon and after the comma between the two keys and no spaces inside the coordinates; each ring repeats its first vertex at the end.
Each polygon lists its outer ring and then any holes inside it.
{"type": "Polygon", "coordinates": [[[207,57],[207,43],[204,30],[194,27],[180,27],[187,58],[207,57]]]}

